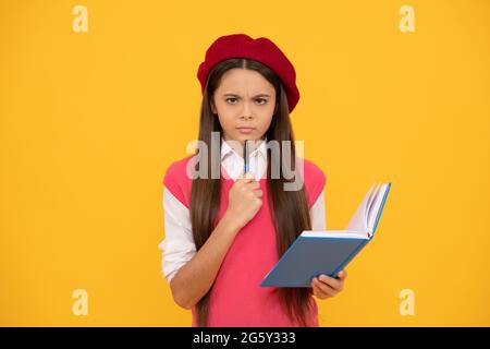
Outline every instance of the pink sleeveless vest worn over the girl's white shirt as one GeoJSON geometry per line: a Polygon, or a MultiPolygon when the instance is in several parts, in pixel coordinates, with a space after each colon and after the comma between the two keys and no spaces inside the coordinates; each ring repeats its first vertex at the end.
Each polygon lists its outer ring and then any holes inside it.
{"type": "MultiPolygon", "coordinates": [[[[194,155],[173,163],[164,176],[166,188],[187,208],[189,208],[192,179],[186,174],[187,163],[194,155]]],[[[324,188],[324,173],[311,161],[304,161],[304,184],[310,208],[324,188]]],[[[302,167],[299,167],[302,168],[302,167]]],[[[222,174],[226,174],[221,167],[222,174]]],[[[260,281],[279,261],[275,248],[275,231],[269,214],[268,193],[265,178],[260,179],[262,206],[256,216],[236,234],[228,251],[215,284],[209,303],[208,326],[257,326],[290,327],[298,326],[284,312],[277,288],[260,287],[260,281]]],[[[222,176],[221,203],[218,212],[220,219],[228,208],[228,195],[234,181],[222,176]]],[[[310,326],[318,326],[318,309],[310,298],[310,326]]],[[[193,326],[196,326],[196,308],[193,310],[193,326]]]]}

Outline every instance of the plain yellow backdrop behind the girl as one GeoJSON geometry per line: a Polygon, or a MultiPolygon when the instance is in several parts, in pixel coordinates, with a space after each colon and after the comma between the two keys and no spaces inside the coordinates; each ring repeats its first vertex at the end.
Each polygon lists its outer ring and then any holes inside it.
{"type": "Polygon", "coordinates": [[[240,32],[296,68],[294,131],[327,174],[329,229],[393,183],[321,324],[490,325],[486,0],[1,1],[0,325],[189,325],[160,272],[162,178],[197,137],[207,47],[240,32]]]}

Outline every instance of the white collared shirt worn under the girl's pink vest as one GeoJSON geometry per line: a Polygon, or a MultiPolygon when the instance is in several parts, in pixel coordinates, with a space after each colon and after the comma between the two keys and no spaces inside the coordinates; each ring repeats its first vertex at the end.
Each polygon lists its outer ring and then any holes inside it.
{"type": "MultiPolygon", "coordinates": [[[[250,171],[255,179],[262,178],[267,170],[266,142],[250,153],[250,171]]],[[[244,159],[223,140],[221,145],[221,164],[233,181],[243,173],[244,159]]],[[[162,251],[162,273],[170,282],[179,269],[196,254],[189,209],[182,204],[166,186],[163,186],[163,212],[166,238],[158,248],[162,251]]],[[[318,196],[310,210],[311,229],[327,229],[324,214],[324,189],[318,196]]]]}

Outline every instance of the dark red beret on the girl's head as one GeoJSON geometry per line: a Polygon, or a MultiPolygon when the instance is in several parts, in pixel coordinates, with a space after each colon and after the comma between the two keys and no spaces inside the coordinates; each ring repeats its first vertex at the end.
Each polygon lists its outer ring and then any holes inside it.
{"type": "Polygon", "coordinates": [[[248,58],[269,67],[281,79],[287,95],[290,112],[299,100],[299,91],[296,87],[296,72],[293,64],[274,43],[266,37],[253,39],[245,34],[221,36],[211,44],[206,51],[206,58],[199,64],[197,79],[204,94],[206,81],[211,69],[219,62],[229,58],[248,58]]]}

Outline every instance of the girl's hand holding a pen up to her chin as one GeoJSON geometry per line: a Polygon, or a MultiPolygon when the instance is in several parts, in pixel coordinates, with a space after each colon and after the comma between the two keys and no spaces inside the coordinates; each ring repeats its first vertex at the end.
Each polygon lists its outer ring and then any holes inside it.
{"type": "Polygon", "coordinates": [[[262,206],[262,191],[254,178],[254,172],[247,172],[235,181],[229,192],[225,215],[238,229],[254,218],[262,206]]]}

